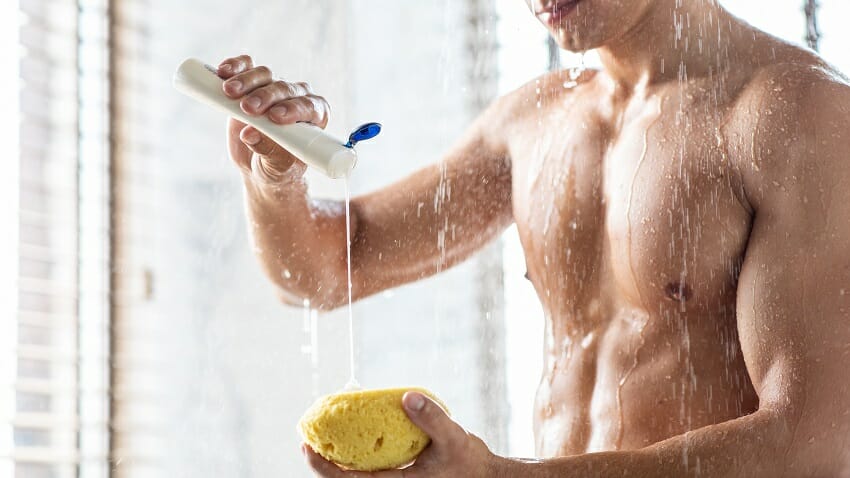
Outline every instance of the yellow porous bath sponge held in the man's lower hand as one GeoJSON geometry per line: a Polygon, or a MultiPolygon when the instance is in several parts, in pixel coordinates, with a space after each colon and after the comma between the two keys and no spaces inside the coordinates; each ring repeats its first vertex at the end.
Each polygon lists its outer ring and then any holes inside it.
{"type": "Polygon", "coordinates": [[[446,408],[421,388],[342,392],[317,400],[301,417],[298,430],[316,453],[343,468],[399,468],[430,443],[428,435],[404,413],[401,397],[408,391],[420,392],[446,408]]]}

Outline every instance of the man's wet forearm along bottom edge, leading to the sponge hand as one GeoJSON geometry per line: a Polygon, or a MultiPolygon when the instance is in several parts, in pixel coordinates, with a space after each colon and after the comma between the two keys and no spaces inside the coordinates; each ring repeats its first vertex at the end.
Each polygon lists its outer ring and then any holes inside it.
{"type": "Polygon", "coordinates": [[[793,427],[782,415],[761,410],[634,451],[590,453],[538,462],[509,461],[505,477],[778,477],[789,471],[793,427]]]}

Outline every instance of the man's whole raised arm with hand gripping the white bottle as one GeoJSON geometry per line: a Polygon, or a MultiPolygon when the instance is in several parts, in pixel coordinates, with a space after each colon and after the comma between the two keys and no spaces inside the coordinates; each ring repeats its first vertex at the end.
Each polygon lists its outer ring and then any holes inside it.
{"type": "MultiPolygon", "coordinates": [[[[324,127],[327,104],[303,84],[275,82],[248,57],[219,70],[239,80],[246,113],[289,124],[324,127]],[[253,88],[253,89],[251,89],[253,88]],[[248,102],[260,97],[261,104],[248,102]],[[281,115],[282,108],[286,112],[281,115]]],[[[505,117],[494,105],[435,165],[351,201],[352,292],[355,299],[430,276],[469,257],[512,221],[511,168],[503,139],[505,117]]],[[[243,172],[255,250],[287,303],[309,300],[322,309],[347,300],[344,204],[311,200],[305,166],[250,126],[231,120],[230,153],[243,172]]]]}

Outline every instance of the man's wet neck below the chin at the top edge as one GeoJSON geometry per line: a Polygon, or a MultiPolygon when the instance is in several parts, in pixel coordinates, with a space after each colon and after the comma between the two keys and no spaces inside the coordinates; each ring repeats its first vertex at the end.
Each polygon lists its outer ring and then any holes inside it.
{"type": "Polygon", "coordinates": [[[626,35],[598,51],[608,75],[627,88],[695,78],[728,65],[740,28],[715,0],[658,0],[626,35]]]}

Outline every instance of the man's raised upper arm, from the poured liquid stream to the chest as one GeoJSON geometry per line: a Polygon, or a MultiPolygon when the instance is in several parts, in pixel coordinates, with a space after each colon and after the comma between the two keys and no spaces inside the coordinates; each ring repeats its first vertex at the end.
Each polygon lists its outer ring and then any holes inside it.
{"type": "Polygon", "coordinates": [[[358,296],[450,267],[510,224],[510,159],[480,128],[439,163],[353,201],[358,296]]]}

